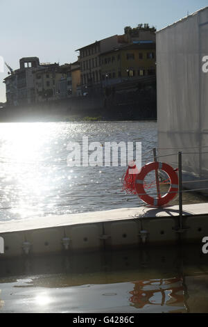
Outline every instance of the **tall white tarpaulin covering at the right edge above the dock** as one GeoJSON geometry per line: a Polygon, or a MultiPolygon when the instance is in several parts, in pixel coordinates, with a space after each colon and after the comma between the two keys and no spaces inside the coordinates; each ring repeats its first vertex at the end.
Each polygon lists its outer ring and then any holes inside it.
{"type": "MultiPolygon", "coordinates": [[[[208,152],[208,72],[202,71],[205,56],[208,7],[157,31],[159,155],[182,151],[183,177],[192,180],[208,177],[208,154],[203,153],[208,152]]],[[[177,155],[159,161],[176,167],[177,155]]],[[[208,187],[208,183],[198,186],[208,187]]]]}

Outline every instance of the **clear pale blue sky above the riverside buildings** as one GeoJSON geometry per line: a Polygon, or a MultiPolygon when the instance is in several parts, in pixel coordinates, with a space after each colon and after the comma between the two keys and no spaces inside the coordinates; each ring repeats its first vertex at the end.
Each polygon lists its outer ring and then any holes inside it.
{"type": "MultiPolygon", "coordinates": [[[[12,67],[37,56],[40,63],[72,63],[76,49],[141,23],[157,30],[208,6],[207,0],[0,0],[0,56],[12,67]]],[[[0,102],[6,101],[0,72],[0,102]]]]}

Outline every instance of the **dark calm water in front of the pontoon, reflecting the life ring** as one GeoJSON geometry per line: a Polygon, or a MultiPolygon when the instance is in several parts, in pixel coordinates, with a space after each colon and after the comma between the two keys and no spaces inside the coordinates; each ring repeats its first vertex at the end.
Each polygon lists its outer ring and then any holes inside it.
{"type": "Polygon", "coordinates": [[[196,246],[0,263],[0,312],[208,312],[196,246]]]}

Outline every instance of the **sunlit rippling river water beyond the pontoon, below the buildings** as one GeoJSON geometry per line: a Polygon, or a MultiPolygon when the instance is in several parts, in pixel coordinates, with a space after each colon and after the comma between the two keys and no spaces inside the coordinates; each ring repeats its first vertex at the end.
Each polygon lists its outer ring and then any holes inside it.
{"type": "MultiPolygon", "coordinates": [[[[141,142],[144,164],[153,161],[157,122],[1,123],[0,221],[142,205],[138,196],[122,192],[127,167],[120,163],[118,167],[112,163],[110,167],[67,166],[71,152],[67,145],[82,145],[83,136],[101,146],[141,142]]],[[[184,197],[184,203],[203,201],[190,193],[184,197]]]]}

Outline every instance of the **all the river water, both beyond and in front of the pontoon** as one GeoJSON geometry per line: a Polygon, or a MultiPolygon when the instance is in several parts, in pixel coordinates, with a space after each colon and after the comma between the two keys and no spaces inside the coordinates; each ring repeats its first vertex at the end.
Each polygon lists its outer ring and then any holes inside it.
{"type": "MultiPolygon", "coordinates": [[[[101,147],[141,142],[144,164],[153,161],[157,123],[1,124],[0,221],[142,205],[122,192],[127,167],[67,166],[67,145],[83,136],[101,147]]],[[[205,198],[184,195],[195,202],[205,198]]],[[[0,262],[0,312],[208,312],[207,287],[200,246],[0,262]]]]}

